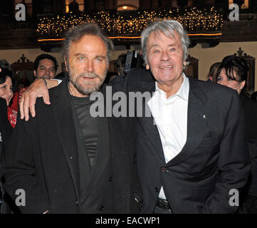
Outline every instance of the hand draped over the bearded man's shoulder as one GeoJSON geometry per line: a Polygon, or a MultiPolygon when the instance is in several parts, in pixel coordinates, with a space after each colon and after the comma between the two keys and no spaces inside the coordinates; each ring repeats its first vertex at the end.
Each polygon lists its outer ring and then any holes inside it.
{"type": "Polygon", "coordinates": [[[32,117],[36,116],[35,103],[36,98],[43,97],[43,102],[46,105],[50,105],[48,88],[58,86],[58,81],[50,79],[37,79],[31,86],[29,86],[21,95],[21,101],[19,104],[21,119],[25,118],[27,121],[29,119],[28,112],[31,112],[32,117]],[[47,86],[46,86],[46,82],[47,86]]]}

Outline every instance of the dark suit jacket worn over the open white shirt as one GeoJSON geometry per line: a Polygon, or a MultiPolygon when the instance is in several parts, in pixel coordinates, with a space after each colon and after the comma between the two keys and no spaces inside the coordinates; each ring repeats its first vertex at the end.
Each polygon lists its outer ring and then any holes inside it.
{"type": "MultiPolygon", "coordinates": [[[[113,82],[117,90],[154,92],[150,71],[136,69],[113,82]]],[[[145,103],[143,103],[145,105],[145,103]]],[[[145,110],[143,108],[143,110],[145,110]]],[[[137,117],[137,165],[144,205],[152,213],[164,187],[174,213],[232,213],[250,170],[244,120],[236,91],[189,78],[187,142],[169,162],[153,118],[137,117]]]]}

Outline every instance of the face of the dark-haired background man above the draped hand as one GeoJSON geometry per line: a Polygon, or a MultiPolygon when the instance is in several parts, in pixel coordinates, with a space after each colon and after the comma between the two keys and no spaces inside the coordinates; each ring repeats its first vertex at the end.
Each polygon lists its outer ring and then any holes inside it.
{"type": "Polygon", "coordinates": [[[35,77],[54,78],[56,76],[56,69],[53,61],[44,58],[38,63],[38,68],[34,71],[35,77]]]}

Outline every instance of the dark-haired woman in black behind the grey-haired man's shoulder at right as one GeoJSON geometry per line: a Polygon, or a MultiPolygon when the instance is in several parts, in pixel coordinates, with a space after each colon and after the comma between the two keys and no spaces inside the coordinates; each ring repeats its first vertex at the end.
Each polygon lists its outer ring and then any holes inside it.
{"type": "Polygon", "coordinates": [[[226,56],[219,66],[216,82],[239,94],[246,123],[246,137],[251,157],[251,173],[241,194],[239,213],[257,213],[257,102],[244,94],[248,66],[239,56],[226,56]]]}

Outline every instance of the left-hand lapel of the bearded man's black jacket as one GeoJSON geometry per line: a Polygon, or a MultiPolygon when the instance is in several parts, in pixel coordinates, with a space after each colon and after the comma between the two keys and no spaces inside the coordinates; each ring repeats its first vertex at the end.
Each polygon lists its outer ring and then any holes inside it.
{"type": "Polygon", "coordinates": [[[56,120],[58,138],[74,182],[75,193],[79,199],[78,149],[75,139],[73,114],[68,97],[67,80],[64,80],[60,86],[56,87],[56,93],[51,98],[51,108],[53,108],[53,118],[56,120]]]}

